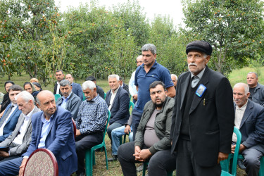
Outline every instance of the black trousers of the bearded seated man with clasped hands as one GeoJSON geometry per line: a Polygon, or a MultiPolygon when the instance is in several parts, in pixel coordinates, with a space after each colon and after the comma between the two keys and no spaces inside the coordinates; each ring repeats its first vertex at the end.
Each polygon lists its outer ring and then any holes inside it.
{"type": "MultiPolygon", "coordinates": [[[[146,146],[142,149],[147,149],[146,146]]],[[[118,148],[118,160],[122,167],[123,175],[137,175],[137,169],[134,163],[142,163],[134,159],[134,142],[122,144],[118,148]]],[[[170,149],[158,151],[149,159],[148,171],[149,175],[167,175],[167,170],[175,170],[176,154],[170,154],[170,149]]]]}

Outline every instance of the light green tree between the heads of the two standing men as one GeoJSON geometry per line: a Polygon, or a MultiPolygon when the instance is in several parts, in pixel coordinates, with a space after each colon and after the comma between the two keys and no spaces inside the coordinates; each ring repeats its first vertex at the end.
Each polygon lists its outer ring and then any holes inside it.
{"type": "Polygon", "coordinates": [[[149,43],[157,47],[157,61],[170,70],[170,73],[180,75],[187,71],[185,46],[187,40],[178,34],[170,17],[156,16],[151,23],[149,43]]]}

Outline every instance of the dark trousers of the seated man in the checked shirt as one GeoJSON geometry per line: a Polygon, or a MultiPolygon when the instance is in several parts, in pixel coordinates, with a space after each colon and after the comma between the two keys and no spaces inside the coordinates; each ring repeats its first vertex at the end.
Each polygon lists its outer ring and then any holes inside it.
{"type": "Polygon", "coordinates": [[[103,142],[103,132],[94,134],[81,134],[75,139],[75,147],[78,158],[78,171],[85,172],[85,151],[103,142]]]}

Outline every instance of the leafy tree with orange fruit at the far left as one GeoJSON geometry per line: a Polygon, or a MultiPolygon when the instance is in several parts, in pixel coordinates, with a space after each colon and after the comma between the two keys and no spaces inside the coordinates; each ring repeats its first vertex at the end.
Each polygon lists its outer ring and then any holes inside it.
{"type": "Polygon", "coordinates": [[[13,74],[24,69],[46,84],[55,70],[68,66],[64,62],[68,45],[58,29],[58,8],[53,0],[2,2],[0,36],[7,46],[3,58],[8,65],[1,65],[1,71],[13,74]]]}

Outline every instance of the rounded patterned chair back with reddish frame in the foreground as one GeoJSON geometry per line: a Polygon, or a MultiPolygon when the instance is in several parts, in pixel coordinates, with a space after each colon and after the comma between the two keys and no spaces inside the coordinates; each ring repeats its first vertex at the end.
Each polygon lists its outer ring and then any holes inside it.
{"type": "Polygon", "coordinates": [[[23,175],[58,175],[58,163],[48,149],[35,150],[25,163],[23,175]]]}

